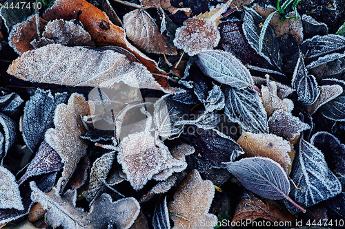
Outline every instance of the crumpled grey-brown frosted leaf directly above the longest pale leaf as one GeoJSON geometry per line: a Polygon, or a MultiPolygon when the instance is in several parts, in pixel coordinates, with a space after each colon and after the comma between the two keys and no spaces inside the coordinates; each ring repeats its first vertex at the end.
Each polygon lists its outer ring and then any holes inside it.
{"type": "Polygon", "coordinates": [[[95,43],[91,41],[91,36],[84,30],[81,25],[77,25],[72,21],[64,21],[56,19],[49,21],[44,28],[42,37],[37,41],[32,41],[35,49],[48,44],[61,44],[66,46],[91,46],[95,47],[95,43]]]}

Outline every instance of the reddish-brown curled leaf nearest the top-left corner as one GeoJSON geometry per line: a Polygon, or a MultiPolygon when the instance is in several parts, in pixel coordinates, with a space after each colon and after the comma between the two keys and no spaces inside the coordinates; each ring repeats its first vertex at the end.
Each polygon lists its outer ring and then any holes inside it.
{"type": "MultiPolygon", "coordinates": [[[[39,27],[41,28],[41,31],[47,23],[48,22],[46,20],[39,18],[39,27]]],[[[28,50],[33,50],[34,47],[30,44],[31,41],[39,39],[39,36],[37,35],[36,17],[31,17],[23,23],[15,25],[9,36],[10,45],[18,54],[23,54],[28,50]]]]}

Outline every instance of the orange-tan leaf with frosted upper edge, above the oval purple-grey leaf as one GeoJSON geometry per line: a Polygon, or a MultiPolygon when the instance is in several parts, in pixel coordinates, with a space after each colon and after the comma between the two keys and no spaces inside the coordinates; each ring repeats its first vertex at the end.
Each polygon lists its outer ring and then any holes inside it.
{"type": "Polygon", "coordinates": [[[247,157],[268,157],[278,162],[286,174],[290,171],[293,150],[290,142],[281,137],[267,133],[249,133],[244,132],[237,140],[239,146],[242,146],[247,157]]]}

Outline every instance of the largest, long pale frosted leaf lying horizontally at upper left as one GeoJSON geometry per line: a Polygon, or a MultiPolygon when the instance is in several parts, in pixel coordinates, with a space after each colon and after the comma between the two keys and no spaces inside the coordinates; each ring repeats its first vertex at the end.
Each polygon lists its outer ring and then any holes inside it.
{"type": "Polygon", "coordinates": [[[144,65],[131,63],[124,54],[59,44],[26,52],[10,65],[8,74],[36,83],[111,87],[123,81],[131,87],[165,91],[144,65]]]}

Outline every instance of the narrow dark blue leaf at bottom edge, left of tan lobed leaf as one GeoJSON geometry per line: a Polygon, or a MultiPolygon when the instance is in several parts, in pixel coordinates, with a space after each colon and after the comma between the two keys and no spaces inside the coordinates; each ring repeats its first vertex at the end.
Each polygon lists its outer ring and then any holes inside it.
{"type": "Polygon", "coordinates": [[[166,197],[158,201],[153,212],[152,226],[154,229],[170,229],[168,206],[166,197]]]}

